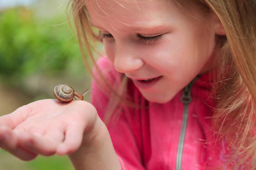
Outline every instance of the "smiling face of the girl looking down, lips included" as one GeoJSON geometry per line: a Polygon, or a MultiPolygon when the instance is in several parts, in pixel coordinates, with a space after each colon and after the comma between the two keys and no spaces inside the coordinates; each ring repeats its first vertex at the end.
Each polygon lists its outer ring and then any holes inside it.
{"type": "Polygon", "coordinates": [[[90,0],[86,8],[109,60],[148,101],[166,103],[211,67],[220,28],[213,14],[159,0],[90,0]]]}

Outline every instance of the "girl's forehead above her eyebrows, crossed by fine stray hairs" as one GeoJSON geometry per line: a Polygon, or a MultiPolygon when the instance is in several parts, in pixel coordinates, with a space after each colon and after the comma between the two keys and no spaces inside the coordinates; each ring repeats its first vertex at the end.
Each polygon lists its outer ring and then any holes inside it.
{"type": "Polygon", "coordinates": [[[166,0],[89,0],[85,5],[93,25],[108,21],[118,29],[142,23],[157,25],[170,15],[171,4],[166,0]]]}

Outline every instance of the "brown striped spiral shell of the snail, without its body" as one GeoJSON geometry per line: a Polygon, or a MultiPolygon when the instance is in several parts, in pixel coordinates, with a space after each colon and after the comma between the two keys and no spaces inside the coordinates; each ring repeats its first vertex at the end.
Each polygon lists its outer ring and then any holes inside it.
{"type": "Polygon", "coordinates": [[[53,90],[53,94],[55,95],[56,99],[61,102],[73,100],[74,92],[75,91],[73,88],[67,84],[58,84],[53,90]]]}

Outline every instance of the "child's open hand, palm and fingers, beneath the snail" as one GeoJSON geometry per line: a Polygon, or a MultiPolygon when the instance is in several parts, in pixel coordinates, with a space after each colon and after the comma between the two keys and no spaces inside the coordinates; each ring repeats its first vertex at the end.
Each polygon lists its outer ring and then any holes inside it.
{"type": "Polygon", "coordinates": [[[0,147],[22,160],[72,154],[85,137],[97,135],[98,122],[96,109],[86,101],[35,101],[0,117],[0,147]]]}

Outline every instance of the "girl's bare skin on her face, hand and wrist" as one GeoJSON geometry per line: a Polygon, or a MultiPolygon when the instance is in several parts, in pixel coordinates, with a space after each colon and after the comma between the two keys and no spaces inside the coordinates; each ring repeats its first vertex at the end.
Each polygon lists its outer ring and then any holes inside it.
{"type": "MultiPolygon", "coordinates": [[[[149,101],[171,100],[208,71],[214,37],[224,33],[213,14],[194,10],[187,15],[172,2],[100,0],[100,7],[87,2],[115,69],[134,81],[160,76],[154,86],[139,88],[149,101]]],[[[86,101],[35,101],[0,117],[0,125],[0,147],[22,160],[58,154],[68,155],[76,169],[121,169],[108,129],[86,101]]]]}

